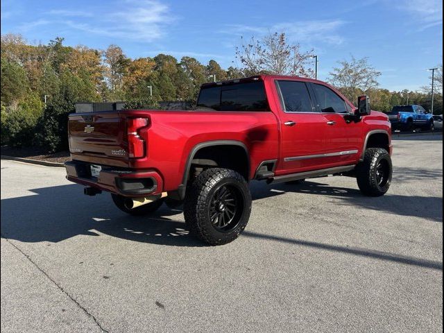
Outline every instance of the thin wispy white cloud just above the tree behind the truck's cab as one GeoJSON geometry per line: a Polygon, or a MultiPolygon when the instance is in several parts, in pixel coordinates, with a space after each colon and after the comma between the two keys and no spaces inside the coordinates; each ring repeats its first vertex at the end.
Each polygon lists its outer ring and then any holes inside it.
{"type": "MultiPolygon", "coordinates": [[[[338,30],[346,22],[341,19],[311,20],[298,22],[282,22],[271,26],[250,26],[243,24],[229,25],[220,33],[233,35],[262,36],[269,32],[286,33],[291,42],[325,42],[327,44],[341,44],[343,37],[338,30]]],[[[246,36],[248,37],[248,36],[246,36]]]]}

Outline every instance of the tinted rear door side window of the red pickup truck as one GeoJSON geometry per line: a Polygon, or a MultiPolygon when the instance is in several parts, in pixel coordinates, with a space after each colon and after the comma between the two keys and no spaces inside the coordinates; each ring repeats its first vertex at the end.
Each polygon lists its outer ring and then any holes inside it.
{"type": "Polygon", "coordinates": [[[313,112],[307,85],[300,81],[278,81],[285,112],[313,112]]]}

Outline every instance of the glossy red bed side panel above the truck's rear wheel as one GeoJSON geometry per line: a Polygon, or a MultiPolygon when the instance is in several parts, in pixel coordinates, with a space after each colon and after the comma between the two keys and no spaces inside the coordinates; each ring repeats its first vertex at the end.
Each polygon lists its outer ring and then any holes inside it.
{"type": "MultiPolygon", "coordinates": [[[[164,178],[164,191],[182,183],[191,150],[201,142],[234,140],[244,144],[250,157],[250,178],[264,160],[278,156],[278,123],[273,112],[145,111],[151,126],[141,133],[148,142],[147,156],[130,167],[155,169],[164,178]]],[[[144,111],[132,111],[132,116],[144,111]]]]}

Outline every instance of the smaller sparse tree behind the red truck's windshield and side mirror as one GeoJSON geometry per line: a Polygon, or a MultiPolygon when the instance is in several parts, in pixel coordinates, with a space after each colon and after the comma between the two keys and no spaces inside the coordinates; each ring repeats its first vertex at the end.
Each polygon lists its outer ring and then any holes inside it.
{"type": "Polygon", "coordinates": [[[379,85],[377,79],[381,72],[368,64],[368,58],[339,61],[339,67],[330,72],[328,81],[341,90],[353,103],[356,103],[359,94],[366,94],[370,89],[379,85]]]}

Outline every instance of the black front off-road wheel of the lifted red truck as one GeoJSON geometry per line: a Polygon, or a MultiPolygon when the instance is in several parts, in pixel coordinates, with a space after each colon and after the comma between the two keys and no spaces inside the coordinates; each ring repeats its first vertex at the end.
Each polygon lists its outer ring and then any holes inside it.
{"type": "Polygon", "coordinates": [[[393,166],[384,148],[368,148],[356,167],[358,187],[366,196],[383,196],[391,184],[393,166]]]}

